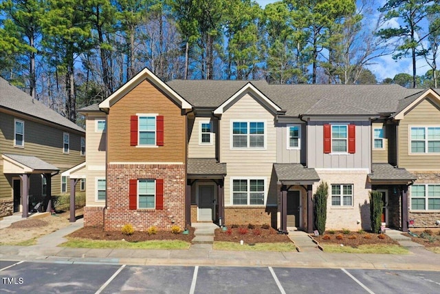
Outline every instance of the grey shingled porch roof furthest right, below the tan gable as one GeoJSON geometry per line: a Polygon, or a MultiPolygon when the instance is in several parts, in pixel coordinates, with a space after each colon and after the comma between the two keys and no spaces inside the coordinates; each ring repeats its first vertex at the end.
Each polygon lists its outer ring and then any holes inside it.
{"type": "Polygon", "coordinates": [[[401,167],[393,167],[388,163],[373,163],[369,180],[373,184],[407,184],[415,181],[416,177],[401,167]]]}

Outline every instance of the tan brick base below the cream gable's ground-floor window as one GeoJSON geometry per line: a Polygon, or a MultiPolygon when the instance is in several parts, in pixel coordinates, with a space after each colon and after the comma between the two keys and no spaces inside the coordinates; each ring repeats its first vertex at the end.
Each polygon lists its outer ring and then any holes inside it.
{"type": "Polygon", "coordinates": [[[276,207],[225,207],[225,224],[270,224],[276,228],[276,207]]]}

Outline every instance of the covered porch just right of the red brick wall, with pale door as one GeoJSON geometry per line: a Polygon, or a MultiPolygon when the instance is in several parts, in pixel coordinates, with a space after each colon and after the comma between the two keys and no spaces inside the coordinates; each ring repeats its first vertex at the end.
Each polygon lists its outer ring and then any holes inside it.
{"type": "Polygon", "coordinates": [[[215,158],[188,158],[185,222],[225,223],[226,164],[215,158]]]}

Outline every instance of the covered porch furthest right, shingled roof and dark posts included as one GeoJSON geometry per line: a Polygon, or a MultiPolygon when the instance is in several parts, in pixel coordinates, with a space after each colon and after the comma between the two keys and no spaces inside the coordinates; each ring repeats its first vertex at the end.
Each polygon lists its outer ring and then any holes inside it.
{"type": "Polygon", "coordinates": [[[368,175],[371,189],[382,193],[382,224],[408,231],[408,187],[416,177],[404,168],[388,163],[373,163],[368,175]]]}

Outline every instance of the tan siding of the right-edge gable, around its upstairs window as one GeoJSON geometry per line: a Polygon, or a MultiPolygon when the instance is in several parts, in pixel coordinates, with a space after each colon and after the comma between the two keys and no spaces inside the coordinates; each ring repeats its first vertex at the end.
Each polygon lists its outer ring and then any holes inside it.
{"type": "Polygon", "coordinates": [[[398,165],[411,170],[440,169],[440,154],[410,154],[410,127],[440,126],[440,106],[426,98],[405,114],[399,123],[398,165]]]}

